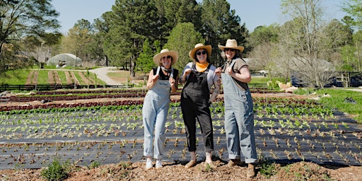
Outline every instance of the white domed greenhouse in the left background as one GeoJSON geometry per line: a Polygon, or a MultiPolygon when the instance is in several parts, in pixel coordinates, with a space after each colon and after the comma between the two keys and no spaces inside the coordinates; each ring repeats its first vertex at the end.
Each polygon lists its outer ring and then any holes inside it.
{"type": "Polygon", "coordinates": [[[81,66],[82,59],[76,57],[74,54],[57,54],[54,57],[50,58],[47,62],[47,65],[54,66],[81,66]]]}

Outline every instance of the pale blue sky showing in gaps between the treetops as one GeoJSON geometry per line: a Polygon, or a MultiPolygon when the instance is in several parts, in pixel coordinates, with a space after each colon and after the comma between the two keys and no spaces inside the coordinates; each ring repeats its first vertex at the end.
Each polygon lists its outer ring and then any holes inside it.
{"type": "MultiPolygon", "coordinates": [[[[201,2],[202,0],[197,0],[201,2]]],[[[324,0],[322,4],[327,17],[341,20],[346,13],[340,10],[344,0],[324,0]]],[[[259,25],[284,23],[280,9],[281,0],[229,0],[230,10],[235,9],[241,23],[252,32],[259,25]]],[[[66,33],[73,28],[78,20],[86,19],[93,23],[95,18],[100,18],[106,11],[112,10],[115,0],[53,0],[52,5],[60,13],[58,21],[62,25],[61,32],[66,33]]]]}

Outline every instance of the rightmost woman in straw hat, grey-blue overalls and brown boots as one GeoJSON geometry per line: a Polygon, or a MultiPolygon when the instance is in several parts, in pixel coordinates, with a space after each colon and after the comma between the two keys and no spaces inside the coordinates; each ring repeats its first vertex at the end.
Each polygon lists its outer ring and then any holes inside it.
{"type": "MultiPolygon", "coordinates": [[[[248,164],[247,177],[255,176],[257,151],[254,136],[253,103],[247,83],[251,81],[249,68],[241,58],[244,47],[236,40],[218,45],[226,59],[221,74],[225,104],[225,131],[228,144],[228,165],[240,165],[240,154],[248,164]]],[[[221,70],[221,68],[218,68],[221,70]]]]}

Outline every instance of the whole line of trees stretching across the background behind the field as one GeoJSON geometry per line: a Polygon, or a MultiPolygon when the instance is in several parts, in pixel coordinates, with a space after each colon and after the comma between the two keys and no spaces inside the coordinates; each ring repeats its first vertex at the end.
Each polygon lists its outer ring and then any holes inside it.
{"type": "Polygon", "coordinates": [[[59,14],[50,2],[1,1],[0,73],[6,64],[20,68],[67,52],[85,62],[105,60],[107,66],[130,69],[131,75],[146,74],[154,66],[153,55],[164,48],[179,52],[175,68],[183,69],[191,61],[189,50],[199,42],[213,47],[211,63],[221,66],[217,45],[230,38],[245,46],[250,69],[286,81],[298,72],[308,85],[324,86],[334,71],[361,71],[361,0],[344,1],[342,10],[349,16],[342,20],[325,18],[322,0],[281,0],[287,21],[252,33],[226,0],[115,0],[111,11],[94,23],[77,21],[66,35],[57,31],[59,14]],[[13,11],[18,16],[11,16],[13,11]],[[32,21],[18,21],[28,13],[32,21]]]}

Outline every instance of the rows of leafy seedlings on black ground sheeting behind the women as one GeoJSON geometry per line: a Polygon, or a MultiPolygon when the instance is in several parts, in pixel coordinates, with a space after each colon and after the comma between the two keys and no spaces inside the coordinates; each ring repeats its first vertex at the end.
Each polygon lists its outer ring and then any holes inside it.
{"type": "MultiPolygon", "coordinates": [[[[268,90],[257,91],[267,93],[268,90]]],[[[49,95],[64,99],[100,95],[122,98],[132,95],[141,98],[145,93],[144,90],[64,91],[14,96],[11,99],[49,98],[49,95]]],[[[281,162],[313,160],[316,163],[362,164],[362,135],[353,119],[315,100],[267,97],[253,100],[259,156],[281,162]]],[[[37,167],[49,160],[49,157],[59,155],[83,162],[141,160],[144,133],[142,104],[142,100],[115,99],[69,105],[0,105],[0,151],[3,153],[0,156],[0,167],[16,164],[37,167]],[[13,159],[8,160],[9,156],[13,159]]],[[[173,100],[170,105],[165,125],[168,137],[165,145],[168,158],[182,160],[187,146],[180,100],[173,100]]],[[[221,159],[227,159],[223,115],[223,98],[218,98],[211,106],[215,154],[221,159]]],[[[199,139],[202,138],[200,133],[197,135],[199,139]]],[[[202,141],[198,141],[198,144],[202,144],[202,141]]]]}

